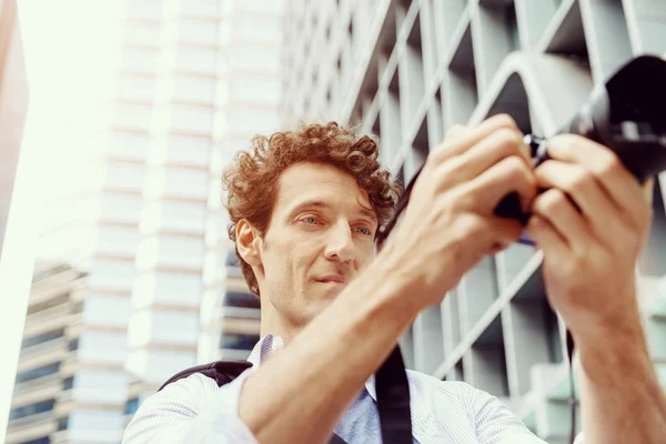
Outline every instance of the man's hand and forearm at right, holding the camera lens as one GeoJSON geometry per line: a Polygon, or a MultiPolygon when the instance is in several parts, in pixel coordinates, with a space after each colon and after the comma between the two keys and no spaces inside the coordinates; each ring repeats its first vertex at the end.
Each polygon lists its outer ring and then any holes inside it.
{"type": "Polygon", "coordinates": [[[535,174],[546,189],[527,229],[544,252],[548,301],[579,353],[585,443],[666,442],[657,383],[636,300],[636,259],[649,231],[650,183],[607,148],[564,134],[535,174]]]}

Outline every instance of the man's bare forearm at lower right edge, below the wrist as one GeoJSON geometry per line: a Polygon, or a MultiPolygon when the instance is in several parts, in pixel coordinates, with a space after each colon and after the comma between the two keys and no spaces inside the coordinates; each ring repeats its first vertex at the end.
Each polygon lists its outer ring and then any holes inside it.
{"type": "Polygon", "coordinates": [[[579,341],[577,375],[585,443],[664,443],[666,396],[637,316],[579,341]]]}

